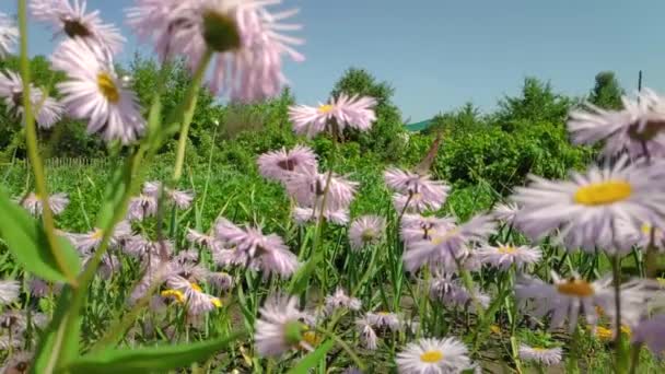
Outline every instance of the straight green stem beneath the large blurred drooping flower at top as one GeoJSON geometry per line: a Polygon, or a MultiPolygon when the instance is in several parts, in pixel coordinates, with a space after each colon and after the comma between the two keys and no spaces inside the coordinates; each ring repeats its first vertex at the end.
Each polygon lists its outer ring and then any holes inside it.
{"type": "Polygon", "coordinates": [[[199,66],[194,73],[194,78],[189,89],[187,90],[187,94],[185,96],[185,106],[183,108],[183,117],[182,117],[182,128],[180,128],[180,138],[178,139],[178,149],[175,159],[175,168],[173,171],[173,182],[174,184],[180,179],[183,175],[183,164],[185,162],[185,149],[187,148],[187,133],[189,132],[189,125],[191,125],[191,118],[194,117],[194,110],[196,109],[196,103],[198,100],[199,87],[201,85],[201,81],[203,80],[203,75],[206,75],[206,69],[208,69],[208,63],[212,59],[212,50],[206,50],[203,58],[199,62],[199,66]]]}

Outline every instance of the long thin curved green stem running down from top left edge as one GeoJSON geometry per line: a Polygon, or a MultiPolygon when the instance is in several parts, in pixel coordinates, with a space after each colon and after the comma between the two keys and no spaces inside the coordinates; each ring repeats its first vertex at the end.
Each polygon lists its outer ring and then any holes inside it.
{"type": "Polygon", "coordinates": [[[30,60],[27,57],[27,4],[26,0],[19,1],[19,30],[21,34],[21,78],[23,80],[23,116],[25,119],[25,138],[27,145],[27,156],[31,165],[33,166],[33,173],[35,175],[35,186],[37,194],[42,199],[42,220],[44,222],[44,231],[46,232],[46,238],[51,254],[58,265],[59,270],[67,277],[69,283],[72,287],[78,287],[75,274],[67,266],[62,248],[58,243],[56,236],[56,226],[54,217],[48,206],[48,190],[46,188],[46,176],[44,173],[44,164],[39,157],[37,150],[37,129],[35,125],[35,117],[32,109],[31,94],[30,94],[30,60]]]}

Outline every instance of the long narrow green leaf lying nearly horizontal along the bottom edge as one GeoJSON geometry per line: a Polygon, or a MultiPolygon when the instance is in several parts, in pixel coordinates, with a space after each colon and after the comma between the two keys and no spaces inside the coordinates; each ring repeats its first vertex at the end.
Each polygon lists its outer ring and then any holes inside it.
{"type": "Polygon", "coordinates": [[[203,361],[240,339],[244,334],[236,332],[222,339],[183,346],[161,346],[125,350],[105,350],[89,353],[73,360],[66,367],[71,374],[145,374],[185,367],[194,362],[203,361]]]}

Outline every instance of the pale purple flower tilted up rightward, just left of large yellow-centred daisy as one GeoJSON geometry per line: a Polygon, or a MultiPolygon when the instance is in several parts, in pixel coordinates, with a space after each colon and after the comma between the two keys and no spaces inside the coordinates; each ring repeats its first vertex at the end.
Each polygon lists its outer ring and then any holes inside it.
{"type": "Polygon", "coordinates": [[[494,223],[487,215],[476,215],[468,222],[438,232],[431,239],[413,243],[404,254],[405,267],[415,271],[423,265],[441,266],[446,271],[454,271],[457,262],[468,256],[469,246],[483,244],[494,233],[494,223]]]}

